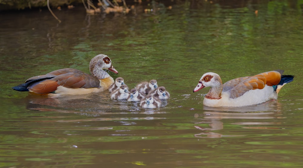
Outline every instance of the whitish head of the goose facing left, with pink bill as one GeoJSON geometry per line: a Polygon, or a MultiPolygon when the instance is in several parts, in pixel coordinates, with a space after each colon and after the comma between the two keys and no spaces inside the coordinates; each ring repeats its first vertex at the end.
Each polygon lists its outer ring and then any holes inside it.
{"type": "Polygon", "coordinates": [[[195,87],[193,92],[197,92],[198,90],[206,87],[215,88],[220,86],[222,86],[222,80],[220,76],[216,73],[208,72],[202,75],[198,85],[195,87]]]}

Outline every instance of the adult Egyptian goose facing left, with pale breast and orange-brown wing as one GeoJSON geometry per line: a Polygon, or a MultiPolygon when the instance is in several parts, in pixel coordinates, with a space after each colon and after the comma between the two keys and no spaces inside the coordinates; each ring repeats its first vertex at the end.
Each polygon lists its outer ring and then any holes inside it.
{"type": "Polygon", "coordinates": [[[283,70],[260,73],[232,79],[222,85],[216,73],[205,73],[193,92],[211,87],[203,104],[210,107],[255,105],[277,99],[282,86],[293,81],[294,76],[282,75],[283,70]]]}

